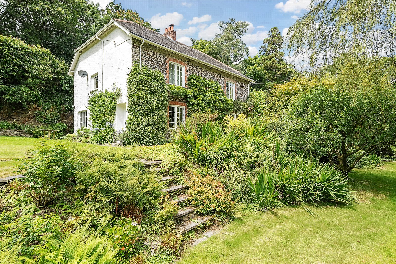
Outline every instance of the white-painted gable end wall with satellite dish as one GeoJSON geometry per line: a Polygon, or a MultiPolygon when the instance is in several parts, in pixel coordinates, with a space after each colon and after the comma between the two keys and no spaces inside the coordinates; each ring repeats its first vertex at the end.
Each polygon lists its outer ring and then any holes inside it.
{"type": "MultiPolygon", "coordinates": [[[[87,110],[89,92],[93,90],[92,76],[98,75],[98,90],[111,90],[116,82],[121,89],[118,103],[126,103],[126,78],[132,65],[131,37],[118,27],[113,27],[109,33],[100,36],[104,41],[104,64],[102,79],[102,42],[98,40],[88,49],[82,51],[74,69],[74,132],[79,128],[79,112],[87,110]],[[86,71],[88,76],[81,77],[78,71],[86,71]]],[[[88,113],[89,125],[89,113],[88,113]]]]}

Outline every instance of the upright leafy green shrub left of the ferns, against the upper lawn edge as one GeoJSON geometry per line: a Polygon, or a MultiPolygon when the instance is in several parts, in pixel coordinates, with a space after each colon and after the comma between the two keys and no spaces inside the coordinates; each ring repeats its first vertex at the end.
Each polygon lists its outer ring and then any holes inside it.
{"type": "Polygon", "coordinates": [[[55,203],[66,188],[72,186],[80,164],[74,160],[68,143],[44,143],[21,159],[18,169],[25,176],[27,195],[37,205],[46,207],[55,203]]]}

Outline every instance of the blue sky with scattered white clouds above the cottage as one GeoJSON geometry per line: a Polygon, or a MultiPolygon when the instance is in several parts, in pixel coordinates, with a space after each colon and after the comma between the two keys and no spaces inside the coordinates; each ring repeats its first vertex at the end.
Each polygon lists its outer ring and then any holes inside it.
{"type": "MultiPolygon", "coordinates": [[[[106,6],[109,0],[94,0],[93,2],[106,6]]],[[[219,33],[218,21],[247,21],[249,29],[242,40],[249,48],[249,55],[258,53],[272,27],[278,27],[282,35],[297,18],[303,15],[310,0],[196,0],[196,1],[158,1],[116,0],[123,8],[137,11],[152,27],[165,32],[169,24],[175,24],[176,40],[191,46],[190,38],[212,39],[219,33]]]]}

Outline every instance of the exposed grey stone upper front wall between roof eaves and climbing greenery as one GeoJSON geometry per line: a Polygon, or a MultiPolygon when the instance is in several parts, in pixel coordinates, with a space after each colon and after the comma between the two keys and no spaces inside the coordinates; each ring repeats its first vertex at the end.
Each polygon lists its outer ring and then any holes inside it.
{"type": "MultiPolygon", "coordinates": [[[[141,44],[138,40],[132,41],[132,61],[139,61],[139,45],[141,44]]],[[[202,77],[214,80],[220,84],[220,86],[225,90],[225,82],[231,81],[235,83],[236,99],[241,101],[246,101],[249,94],[247,80],[230,75],[223,71],[211,68],[202,63],[198,63],[186,57],[168,52],[167,50],[158,48],[150,44],[143,44],[142,46],[142,64],[148,66],[152,69],[160,70],[164,76],[166,83],[168,80],[168,65],[169,61],[173,61],[185,66],[185,77],[187,79],[188,75],[196,74],[202,77]]],[[[186,87],[188,88],[188,83],[186,80],[186,87]]]]}

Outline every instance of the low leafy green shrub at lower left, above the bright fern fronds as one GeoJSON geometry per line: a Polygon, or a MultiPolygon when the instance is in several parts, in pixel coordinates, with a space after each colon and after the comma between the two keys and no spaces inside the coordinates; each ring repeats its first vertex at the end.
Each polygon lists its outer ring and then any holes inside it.
{"type": "Polygon", "coordinates": [[[21,215],[2,228],[2,235],[8,237],[9,249],[18,247],[19,253],[32,256],[35,250],[44,249],[50,245],[47,239],[62,240],[62,222],[56,214],[50,216],[21,215]]]}

